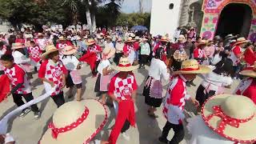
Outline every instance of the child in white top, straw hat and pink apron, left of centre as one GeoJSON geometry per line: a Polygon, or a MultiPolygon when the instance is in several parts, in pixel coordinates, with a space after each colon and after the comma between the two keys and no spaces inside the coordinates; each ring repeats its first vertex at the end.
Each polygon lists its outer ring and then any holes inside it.
{"type": "Polygon", "coordinates": [[[68,75],[66,78],[66,87],[70,88],[70,94],[68,98],[72,98],[73,94],[73,88],[74,86],[77,87],[77,101],[82,100],[82,78],[81,75],[78,73],[78,70],[81,69],[81,66],[79,65],[78,58],[74,56],[76,54],[77,49],[74,48],[74,46],[66,46],[63,50],[63,57],[62,62],[64,66],[66,67],[66,70],[68,70],[68,75]]]}

